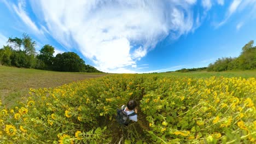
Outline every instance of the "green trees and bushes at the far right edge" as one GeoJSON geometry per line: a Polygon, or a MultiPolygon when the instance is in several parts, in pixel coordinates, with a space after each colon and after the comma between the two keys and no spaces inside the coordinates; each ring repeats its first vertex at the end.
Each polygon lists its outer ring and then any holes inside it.
{"type": "Polygon", "coordinates": [[[224,70],[248,70],[256,69],[256,46],[253,47],[254,41],[251,40],[242,47],[242,52],[237,58],[225,57],[218,58],[213,64],[209,64],[208,71],[224,71],[224,70]]]}

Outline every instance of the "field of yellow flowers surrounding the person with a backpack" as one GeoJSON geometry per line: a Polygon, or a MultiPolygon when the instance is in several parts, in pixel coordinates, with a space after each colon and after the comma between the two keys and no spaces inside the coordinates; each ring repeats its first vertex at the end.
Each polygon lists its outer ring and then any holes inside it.
{"type": "Polygon", "coordinates": [[[255,95],[254,77],[123,74],[30,89],[14,109],[0,103],[0,143],[255,143],[255,95]],[[129,99],[138,122],[124,128],[115,115],[129,99]]]}

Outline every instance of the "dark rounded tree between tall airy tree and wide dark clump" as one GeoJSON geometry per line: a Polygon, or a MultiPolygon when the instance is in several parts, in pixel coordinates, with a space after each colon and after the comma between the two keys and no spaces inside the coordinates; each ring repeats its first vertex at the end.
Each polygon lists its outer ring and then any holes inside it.
{"type": "Polygon", "coordinates": [[[37,59],[44,63],[44,68],[51,69],[54,61],[54,47],[51,45],[44,45],[40,50],[40,54],[37,55],[37,59]]]}

